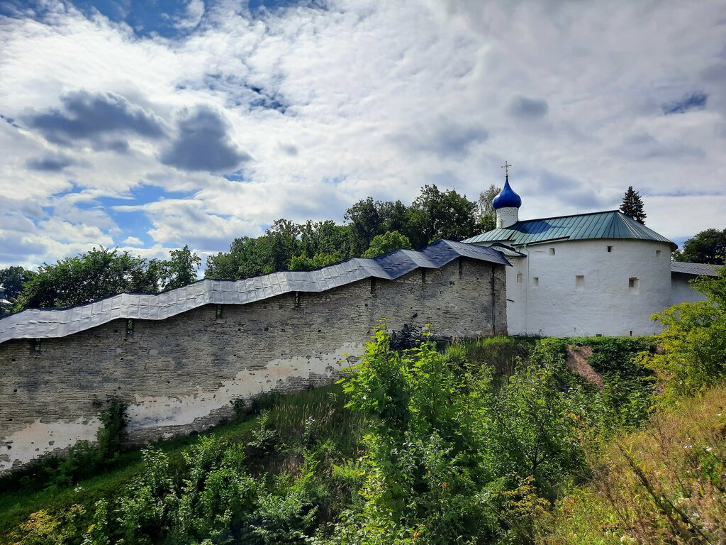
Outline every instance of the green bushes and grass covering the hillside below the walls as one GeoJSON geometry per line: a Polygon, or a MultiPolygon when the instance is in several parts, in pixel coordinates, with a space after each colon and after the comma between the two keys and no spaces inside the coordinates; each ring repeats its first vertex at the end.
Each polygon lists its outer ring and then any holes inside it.
{"type": "Polygon", "coordinates": [[[140,452],[118,453],[110,411],[88,464],[4,478],[0,531],[59,545],[723,543],[726,273],[698,287],[709,304],[664,312],[649,339],[437,350],[380,329],[342,385],[240,402],[238,421],[140,452]],[[597,384],[568,367],[584,347],[597,384]]]}

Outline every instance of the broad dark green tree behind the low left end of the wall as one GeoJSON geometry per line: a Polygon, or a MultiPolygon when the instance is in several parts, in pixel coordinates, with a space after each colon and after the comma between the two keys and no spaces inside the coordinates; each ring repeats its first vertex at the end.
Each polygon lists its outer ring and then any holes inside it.
{"type": "Polygon", "coordinates": [[[38,267],[17,297],[15,310],[73,307],[125,291],[155,293],[159,283],[159,262],[101,246],[38,267]]]}

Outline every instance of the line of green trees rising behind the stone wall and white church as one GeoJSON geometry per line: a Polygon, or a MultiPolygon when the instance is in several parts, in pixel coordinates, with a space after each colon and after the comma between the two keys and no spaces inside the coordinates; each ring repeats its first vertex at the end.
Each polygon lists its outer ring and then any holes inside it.
{"type": "MultiPolygon", "coordinates": [[[[490,185],[469,201],[455,190],[425,185],[410,206],[368,197],[346,210],[345,222],[295,223],[277,219],[264,235],[235,238],[229,251],[206,260],[205,278],[238,280],[281,270],[314,270],[350,257],[376,257],[397,249],[418,249],[447,238],[461,241],[495,227],[492,200],[500,188],[490,185]]],[[[621,211],[644,222],[640,195],[628,188],[621,211]]],[[[673,259],[722,264],[726,229],[707,229],[685,242],[673,259]]],[[[85,254],[37,270],[0,269],[0,284],[10,305],[2,312],[28,308],[73,307],[122,292],[156,293],[197,280],[200,257],[189,246],[169,259],[144,259],[128,251],[94,248],[85,254]]]]}

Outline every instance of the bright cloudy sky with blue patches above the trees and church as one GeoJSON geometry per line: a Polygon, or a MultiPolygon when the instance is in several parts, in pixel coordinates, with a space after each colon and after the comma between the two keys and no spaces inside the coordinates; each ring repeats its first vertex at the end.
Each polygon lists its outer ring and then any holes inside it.
{"type": "Polygon", "coordinates": [[[0,0],[0,267],[426,184],[726,227],[726,1],[0,0]]]}

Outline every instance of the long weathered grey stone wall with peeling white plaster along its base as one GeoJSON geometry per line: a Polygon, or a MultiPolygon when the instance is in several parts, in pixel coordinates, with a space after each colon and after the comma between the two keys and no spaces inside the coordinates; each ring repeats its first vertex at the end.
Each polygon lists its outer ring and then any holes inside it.
{"type": "Polygon", "coordinates": [[[397,280],[222,305],[221,315],[211,304],[134,320],[133,334],[114,320],[41,339],[40,352],[28,339],[0,344],[0,472],[94,440],[113,397],[129,403],[131,440],[144,442],[215,424],[239,397],[328,383],[384,318],[449,337],[506,334],[504,268],[461,258],[397,280]]]}

